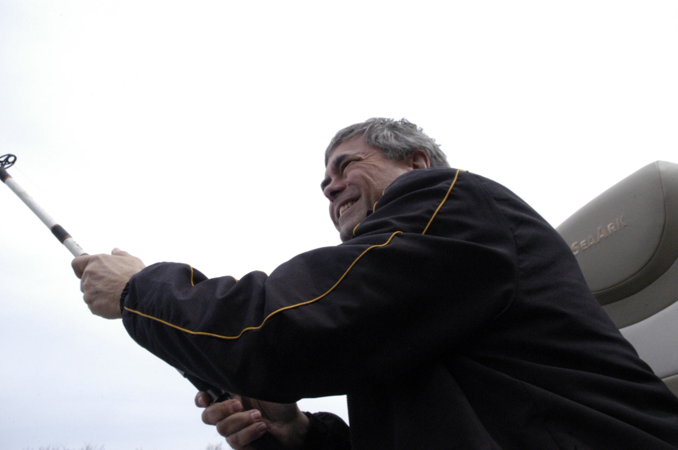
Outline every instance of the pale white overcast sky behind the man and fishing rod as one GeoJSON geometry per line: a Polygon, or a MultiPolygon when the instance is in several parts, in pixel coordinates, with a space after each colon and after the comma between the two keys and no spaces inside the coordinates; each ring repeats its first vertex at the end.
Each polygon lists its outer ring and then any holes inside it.
{"type": "MultiPolygon", "coordinates": [[[[677,19],[652,0],[0,0],[0,155],[89,253],[210,277],[338,244],[323,150],[375,116],[555,226],[678,162],[677,19]]],[[[220,442],[186,380],[89,314],[70,254],[5,188],[0,219],[0,448],[220,442]]]]}

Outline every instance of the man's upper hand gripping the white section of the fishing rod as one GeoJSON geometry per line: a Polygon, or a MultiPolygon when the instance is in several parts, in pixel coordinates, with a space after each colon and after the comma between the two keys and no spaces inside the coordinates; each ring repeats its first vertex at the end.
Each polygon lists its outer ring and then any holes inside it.
{"type": "Polygon", "coordinates": [[[89,310],[104,319],[121,318],[120,295],[132,275],[146,267],[139,258],[117,248],[110,255],[78,256],[71,266],[89,310]]]}

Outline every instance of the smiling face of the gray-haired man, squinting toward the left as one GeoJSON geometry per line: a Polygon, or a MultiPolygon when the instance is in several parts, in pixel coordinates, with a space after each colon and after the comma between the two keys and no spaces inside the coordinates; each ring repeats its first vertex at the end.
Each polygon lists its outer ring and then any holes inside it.
{"type": "Polygon", "coordinates": [[[342,241],[353,237],[353,228],[367,217],[384,189],[410,170],[407,160],[386,159],[381,150],[365,144],[363,136],[332,151],[320,187],[330,200],[330,218],[342,241]]]}

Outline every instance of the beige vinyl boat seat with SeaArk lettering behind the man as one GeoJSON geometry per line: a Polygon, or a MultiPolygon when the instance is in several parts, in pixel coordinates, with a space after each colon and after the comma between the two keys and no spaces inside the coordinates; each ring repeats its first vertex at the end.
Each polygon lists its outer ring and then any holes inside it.
{"type": "Polygon", "coordinates": [[[556,229],[603,309],[678,395],[678,164],[646,165],[556,229]]]}

